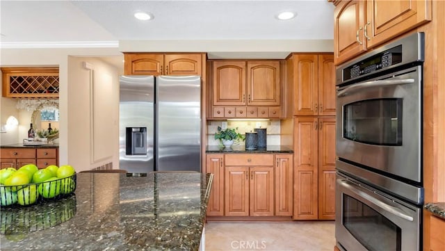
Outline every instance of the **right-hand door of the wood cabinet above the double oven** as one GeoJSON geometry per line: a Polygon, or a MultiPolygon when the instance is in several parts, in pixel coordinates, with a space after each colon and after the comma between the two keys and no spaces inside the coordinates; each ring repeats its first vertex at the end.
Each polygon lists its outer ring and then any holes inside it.
{"type": "Polygon", "coordinates": [[[431,7],[431,0],[367,0],[367,47],[375,47],[430,21],[431,7]]]}

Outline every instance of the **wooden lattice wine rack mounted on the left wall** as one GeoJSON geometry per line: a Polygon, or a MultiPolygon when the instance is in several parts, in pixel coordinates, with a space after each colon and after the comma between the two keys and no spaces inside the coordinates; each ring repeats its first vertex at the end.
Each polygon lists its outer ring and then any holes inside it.
{"type": "Polygon", "coordinates": [[[1,67],[3,97],[58,98],[58,67],[1,67]]]}

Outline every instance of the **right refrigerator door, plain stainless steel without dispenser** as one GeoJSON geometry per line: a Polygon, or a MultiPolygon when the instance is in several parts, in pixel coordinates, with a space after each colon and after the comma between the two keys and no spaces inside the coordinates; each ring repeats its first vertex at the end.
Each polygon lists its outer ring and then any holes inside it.
{"type": "Polygon", "coordinates": [[[159,76],[156,94],[156,170],[200,172],[200,76],[159,76]]]}

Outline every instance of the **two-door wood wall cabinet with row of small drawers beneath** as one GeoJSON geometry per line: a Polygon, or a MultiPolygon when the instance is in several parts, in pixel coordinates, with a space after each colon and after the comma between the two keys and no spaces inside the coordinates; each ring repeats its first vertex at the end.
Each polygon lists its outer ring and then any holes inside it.
{"type": "Polygon", "coordinates": [[[280,118],[280,60],[213,60],[211,64],[210,117],[280,118]]]}

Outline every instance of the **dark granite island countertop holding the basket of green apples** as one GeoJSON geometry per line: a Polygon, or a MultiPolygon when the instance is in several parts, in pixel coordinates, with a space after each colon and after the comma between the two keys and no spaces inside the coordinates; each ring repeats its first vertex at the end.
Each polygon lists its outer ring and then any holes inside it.
{"type": "Polygon", "coordinates": [[[213,175],[76,179],[65,199],[2,208],[0,250],[198,250],[213,175]]]}

